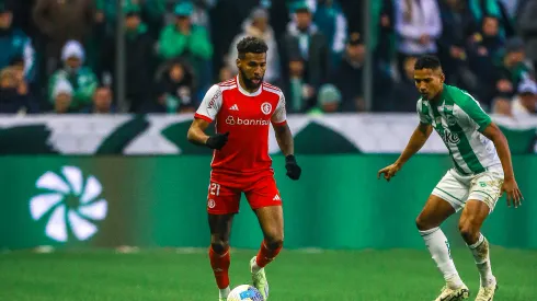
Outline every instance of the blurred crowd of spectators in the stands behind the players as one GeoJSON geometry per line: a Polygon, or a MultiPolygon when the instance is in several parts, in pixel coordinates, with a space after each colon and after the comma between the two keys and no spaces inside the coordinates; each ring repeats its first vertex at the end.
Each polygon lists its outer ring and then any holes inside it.
{"type": "Polygon", "coordinates": [[[536,113],[537,0],[122,0],[124,22],[117,1],[0,0],[0,113],[193,112],[244,36],[266,40],[290,113],[415,112],[424,54],[487,112],[536,113]]]}

